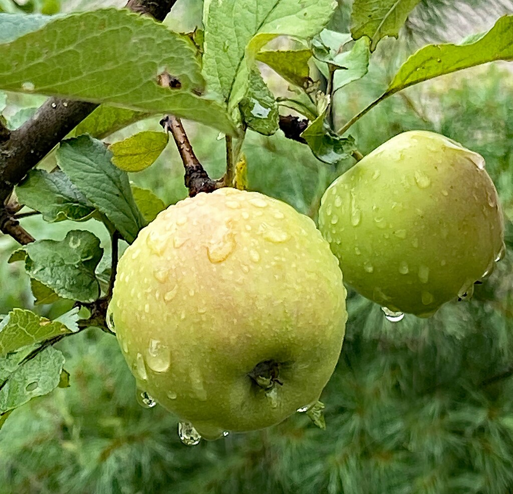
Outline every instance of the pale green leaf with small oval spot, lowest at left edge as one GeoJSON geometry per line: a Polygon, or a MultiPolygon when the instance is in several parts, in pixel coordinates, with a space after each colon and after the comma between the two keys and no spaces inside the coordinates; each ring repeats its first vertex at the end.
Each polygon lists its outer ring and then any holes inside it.
{"type": "Polygon", "coordinates": [[[24,405],[32,398],[55,389],[61,380],[63,365],[62,352],[49,346],[33,359],[17,366],[0,390],[0,413],[24,405]]]}

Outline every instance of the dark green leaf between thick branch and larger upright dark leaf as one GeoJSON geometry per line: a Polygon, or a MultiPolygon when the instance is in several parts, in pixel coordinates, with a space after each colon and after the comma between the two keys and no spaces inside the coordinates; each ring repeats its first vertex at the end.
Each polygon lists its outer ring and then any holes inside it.
{"type": "Polygon", "coordinates": [[[49,223],[91,217],[94,206],[62,171],[32,170],[16,187],[18,201],[40,211],[49,223]]]}

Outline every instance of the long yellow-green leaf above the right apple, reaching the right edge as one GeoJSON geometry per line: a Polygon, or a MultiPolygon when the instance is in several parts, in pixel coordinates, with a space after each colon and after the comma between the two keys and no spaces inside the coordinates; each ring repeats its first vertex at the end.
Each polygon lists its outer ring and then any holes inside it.
{"type": "Polygon", "coordinates": [[[387,93],[457,70],[496,60],[513,60],[513,15],[501,17],[475,43],[427,45],[413,53],[401,66],[387,93]]]}

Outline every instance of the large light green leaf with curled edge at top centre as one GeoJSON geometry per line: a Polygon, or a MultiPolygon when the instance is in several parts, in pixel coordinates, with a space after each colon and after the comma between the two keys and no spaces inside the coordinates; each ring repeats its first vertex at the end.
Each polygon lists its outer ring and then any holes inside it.
{"type": "Polygon", "coordinates": [[[329,21],[336,5],[333,0],[205,2],[207,87],[235,108],[246,94],[248,72],[264,45],[280,35],[311,38],[329,21]]]}

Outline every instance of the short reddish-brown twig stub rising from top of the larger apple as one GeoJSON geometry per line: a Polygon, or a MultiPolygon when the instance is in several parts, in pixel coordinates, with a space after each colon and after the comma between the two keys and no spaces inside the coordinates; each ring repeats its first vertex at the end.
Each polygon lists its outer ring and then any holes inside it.
{"type": "Polygon", "coordinates": [[[185,186],[189,189],[189,196],[194,197],[200,192],[212,192],[222,187],[222,182],[212,180],[203,168],[194,151],[180,118],[173,115],[167,115],[160,122],[162,127],[171,132],[182,163],[185,168],[185,186]]]}

